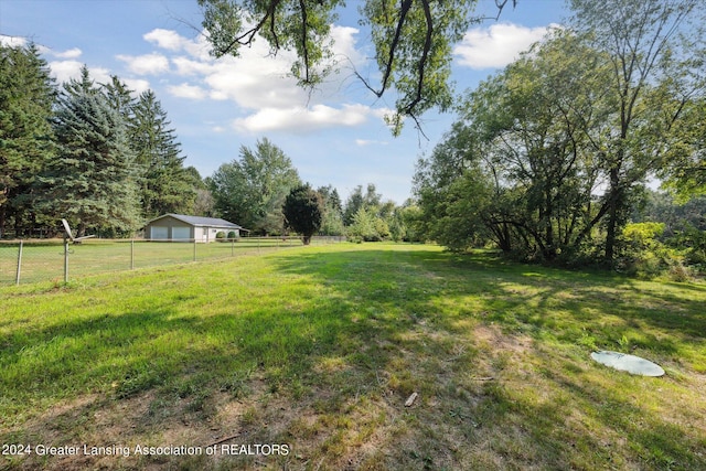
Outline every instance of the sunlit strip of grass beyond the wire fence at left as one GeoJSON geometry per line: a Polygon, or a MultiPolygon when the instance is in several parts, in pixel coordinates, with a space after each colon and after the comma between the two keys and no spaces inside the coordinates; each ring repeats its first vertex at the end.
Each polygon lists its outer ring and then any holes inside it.
{"type": "MultiPolygon", "coordinates": [[[[345,237],[313,237],[312,245],[332,244],[345,237]]],[[[203,244],[194,239],[152,242],[87,239],[64,244],[61,239],[0,243],[0,286],[21,282],[68,281],[101,272],[217,260],[299,247],[298,237],[240,237],[203,244]]]]}

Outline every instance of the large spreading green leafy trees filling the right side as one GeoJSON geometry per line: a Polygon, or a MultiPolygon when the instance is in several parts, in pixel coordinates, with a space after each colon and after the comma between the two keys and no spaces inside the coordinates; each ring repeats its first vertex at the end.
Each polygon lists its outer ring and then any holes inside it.
{"type": "Polygon", "coordinates": [[[706,191],[699,2],[571,1],[568,28],[467,93],[415,175],[449,248],[614,264],[649,179],[706,191]]]}

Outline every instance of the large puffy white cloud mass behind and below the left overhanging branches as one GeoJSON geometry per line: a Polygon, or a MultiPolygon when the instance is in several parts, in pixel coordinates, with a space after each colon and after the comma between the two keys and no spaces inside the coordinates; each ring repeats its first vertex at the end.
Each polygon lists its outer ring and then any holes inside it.
{"type": "MultiPolygon", "coordinates": [[[[364,55],[356,49],[357,33],[355,28],[333,25],[331,29],[334,41],[332,61],[341,68],[365,62],[364,55]]],[[[324,96],[340,90],[328,84],[309,95],[297,86],[291,76],[296,54],[279,51],[272,56],[269,44],[261,38],[250,46],[242,47],[237,57],[224,56],[218,60],[207,54],[208,45],[204,35],[188,39],[174,31],[157,29],[145,34],[143,39],[162,50],[171,62],[170,72],[184,81],[180,85],[169,86],[170,94],[186,99],[233,101],[237,106],[236,113],[247,115],[233,121],[232,127],[238,131],[308,132],[330,127],[353,127],[371,117],[381,118],[385,113],[360,104],[331,107],[324,104],[324,96]]],[[[146,73],[150,65],[154,65],[147,58],[156,56],[162,57],[160,54],[142,56],[146,58],[142,69],[138,67],[137,57],[119,58],[127,62],[131,71],[146,73]]],[[[163,62],[159,64],[154,71],[167,72],[163,62]]]]}

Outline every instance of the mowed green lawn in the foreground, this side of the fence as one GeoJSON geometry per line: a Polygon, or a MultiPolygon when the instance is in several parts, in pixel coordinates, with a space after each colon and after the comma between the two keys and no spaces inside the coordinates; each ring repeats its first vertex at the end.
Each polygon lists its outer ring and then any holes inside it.
{"type": "Polygon", "coordinates": [[[0,297],[2,443],[218,450],[8,469],[706,469],[703,283],[336,244],[0,297]]]}

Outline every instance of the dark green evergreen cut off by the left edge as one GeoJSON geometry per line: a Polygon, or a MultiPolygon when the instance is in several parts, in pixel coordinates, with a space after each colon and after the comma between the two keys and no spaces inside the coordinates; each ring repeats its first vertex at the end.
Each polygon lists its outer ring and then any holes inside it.
{"type": "Polygon", "coordinates": [[[32,205],[36,175],[50,160],[50,117],[55,86],[32,44],[0,44],[0,236],[9,222],[17,233],[42,218],[32,205]]]}

